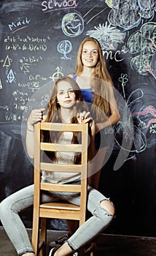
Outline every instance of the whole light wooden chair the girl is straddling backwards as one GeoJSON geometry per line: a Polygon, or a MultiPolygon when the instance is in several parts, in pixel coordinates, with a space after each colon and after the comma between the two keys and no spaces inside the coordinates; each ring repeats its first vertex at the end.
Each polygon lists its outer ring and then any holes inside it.
{"type": "MultiPolygon", "coordinates": [[[[79,225],[85,222],[86,200],[87,200],[87,135],[88,125],[82,124],[52,124],[52,123],[37,123],[34,127],[34,217],[33,217],[33,232],[32,246],[35,255],[45,255],[46,247],[46,219],[74,219],[79,221],[79,225]],[[41,130],[52,130],[61,132],[81,132],[81,144],[58,144],[44,143],[41,141],[41,130]],[[82,162],[80,165],[58,165],[52,162],[43,162],[41,159],[41,151],[72,151],[80,152],[82,162]],[[42,170],[57,171],[57,172],[77,172],[82,176],[81,184],[51,184],[41,182],[42,170]],[[71,203],[41,203],[42,190],[61,191],[61,192],[79,192],[80,206],[71,203]],[[39,235],[39,220],[40,220],[40,235],[39,235]]],[[[90,248],[92,248],[91,246],[90,248]]],[[[84,255],[83,249],[79,250],[79,255],[84,255]]],[[[93,255],[93,250],[90,251],[93,255]]],[[[88,254],[87,254],[88,255],[88,254]]]]}

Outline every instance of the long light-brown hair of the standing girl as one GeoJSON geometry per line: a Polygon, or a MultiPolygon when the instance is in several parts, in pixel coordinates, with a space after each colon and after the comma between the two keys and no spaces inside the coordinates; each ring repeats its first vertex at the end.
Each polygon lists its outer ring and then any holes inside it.
{"type": "Polygon", "coordinates": [[[90,85],[94,93],[91,113],[95,116],[96,121],[104,121],[109,112],[109,89],[110,86],[113,86],[112,78],[106,68],[101,45],[98,40],[93,37],[85,38],[79,45],[76,75],[82,74],[82,49],[85,42],[95,42],[98,48],[98,62],[95,65],[95,71],[90,85]]]}

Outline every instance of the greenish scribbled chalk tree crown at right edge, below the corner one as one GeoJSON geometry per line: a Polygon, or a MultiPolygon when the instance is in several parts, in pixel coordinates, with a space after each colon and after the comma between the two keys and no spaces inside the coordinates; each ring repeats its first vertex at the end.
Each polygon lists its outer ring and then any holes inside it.
{"type": "Polygon", "coordinates": [[[135,54],[131,60],[132,69],[136,69],[140,75],[151,73],[155,78],[156,59],[156,23],[149,22],[141,26],[128,39],[127,45],[130,53],[135,54]],[[152,71],[153,70],[153,71],[152,71]]]}

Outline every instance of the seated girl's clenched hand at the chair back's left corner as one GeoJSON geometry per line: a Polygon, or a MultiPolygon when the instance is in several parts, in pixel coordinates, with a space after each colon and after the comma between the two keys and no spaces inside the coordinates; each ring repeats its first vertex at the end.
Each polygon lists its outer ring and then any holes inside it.
{"type": "Polygon", "coordinates": [[[28,117],[28,122],[27,122],[28,129],[30,130],[34,129],[34,124],[36,124],[38,121],[43,120],[44,110],[45,110],[44,108],[40,108],[40,109],[35,109],[31,111],[31,114],[28,117]]]}

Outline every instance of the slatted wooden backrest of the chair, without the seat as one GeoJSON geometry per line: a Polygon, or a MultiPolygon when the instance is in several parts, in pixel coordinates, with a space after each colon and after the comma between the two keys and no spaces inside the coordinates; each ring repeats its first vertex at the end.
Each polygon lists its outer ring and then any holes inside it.
{"type": "MultiPolygon", "coordinates": [[[[60,124],[39,122],[34,126],[34,204],[39,205],[41,190],[58,192],[79,192],[81,222],[85,222],[86,200],[87,200],[87,143],[88,124],[60,124]],[[79,144],[62,144],[42,141],[42,131],[52,132],[79,132],[81,140],[79,144]],[[75,152],[81,154],[79,164],[58,164],[44,161],[42,153],[50,152],[75,152]],[[80,184],[52,184],[41,182],[42,170],[47,172],[79,173],[80,184]]],[[[34,208],[36,207],[34,205],[34,208]]],[[[36,207],[37,208],[37,207],[36,207]]],[[[72,219],[72,218],[71,218],[72,219]]]]}

